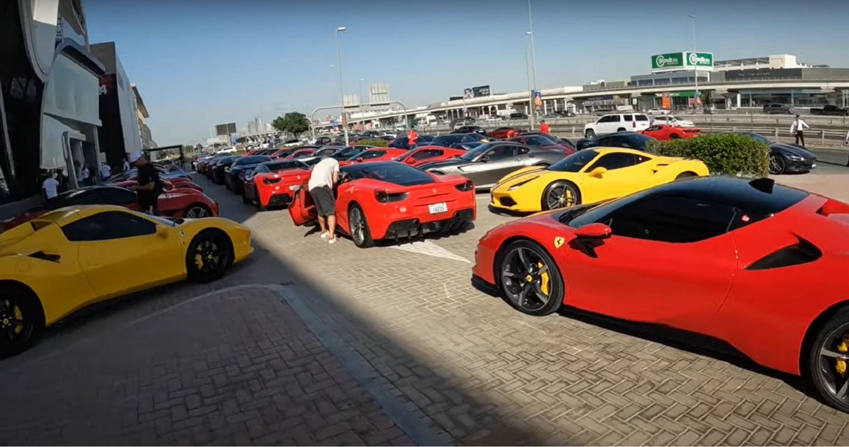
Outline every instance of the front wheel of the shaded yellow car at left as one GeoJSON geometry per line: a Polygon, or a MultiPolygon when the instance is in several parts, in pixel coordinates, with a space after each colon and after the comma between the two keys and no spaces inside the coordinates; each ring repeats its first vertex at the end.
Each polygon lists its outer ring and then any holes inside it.
{"type": "Polygon", "coordinates": [[[186,250],[188,280],[211,282],[221,278],[233,263],[233,242],[220,229],[195,235],[186,250]]]}

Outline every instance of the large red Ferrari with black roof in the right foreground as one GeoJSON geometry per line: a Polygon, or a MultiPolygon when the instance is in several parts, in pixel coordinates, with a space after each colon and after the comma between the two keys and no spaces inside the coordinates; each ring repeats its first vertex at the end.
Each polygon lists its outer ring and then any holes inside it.
{"type": "Polygon", "coordinates": [[[849,205],[706,177],[505,223],[473,274],[526,314],[568,305],[716,337],[849,411],[847,252],[849,205]]]}

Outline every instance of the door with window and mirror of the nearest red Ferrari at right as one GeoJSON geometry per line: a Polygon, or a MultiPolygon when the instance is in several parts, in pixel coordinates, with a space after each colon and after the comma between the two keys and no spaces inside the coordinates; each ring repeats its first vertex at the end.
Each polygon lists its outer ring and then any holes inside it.
{"type": "Polygon", "coordinates": [[[566,303],[627,320],[704,331],[737,267],[734,208],[678,195],[646,195],[596,219],[612,235],[555,252],[566,303]],[[611,280],[615,279],[615,280],[611,280]]]}

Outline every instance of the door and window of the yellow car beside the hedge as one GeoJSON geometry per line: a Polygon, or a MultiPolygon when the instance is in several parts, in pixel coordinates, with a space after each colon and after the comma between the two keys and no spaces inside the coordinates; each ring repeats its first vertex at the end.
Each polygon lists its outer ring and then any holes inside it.
{"type": "Polygon", "coordinates": [[[599,157],[593,164],[585,167],[580,174],[578,187],[582,191],[582,201],[606,201],[628,195],[649,187],[652,177],[647,165],[649,156],[640,156],[631,152],[609,152],[599,157]],[[596,168],[604,168],[597,171],[596,168]]]}

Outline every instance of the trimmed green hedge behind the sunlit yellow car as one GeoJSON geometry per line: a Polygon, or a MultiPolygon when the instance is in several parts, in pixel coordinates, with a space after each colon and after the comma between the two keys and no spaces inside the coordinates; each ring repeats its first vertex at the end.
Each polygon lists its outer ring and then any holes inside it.
{"type": "Polygon", "coordinates": [[[766,177],[769,173],[769,145],[745,135],[725,133],[651,141],[646,151],[704,161],[715,175],[766,177]]]}

